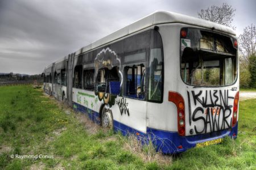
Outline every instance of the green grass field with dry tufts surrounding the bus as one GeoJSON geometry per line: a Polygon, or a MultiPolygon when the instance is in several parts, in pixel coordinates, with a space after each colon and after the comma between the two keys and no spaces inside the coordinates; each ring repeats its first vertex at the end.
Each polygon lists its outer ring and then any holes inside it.
{"type": "Polygon", "coordinates": [[[240,102],[236,140],[164,156],[92,124],[39,89],[0,87],[0,169],[255,169],[255,103],[240,102]],[[16,154],[49,156],[11,158],[16,154]]]}

